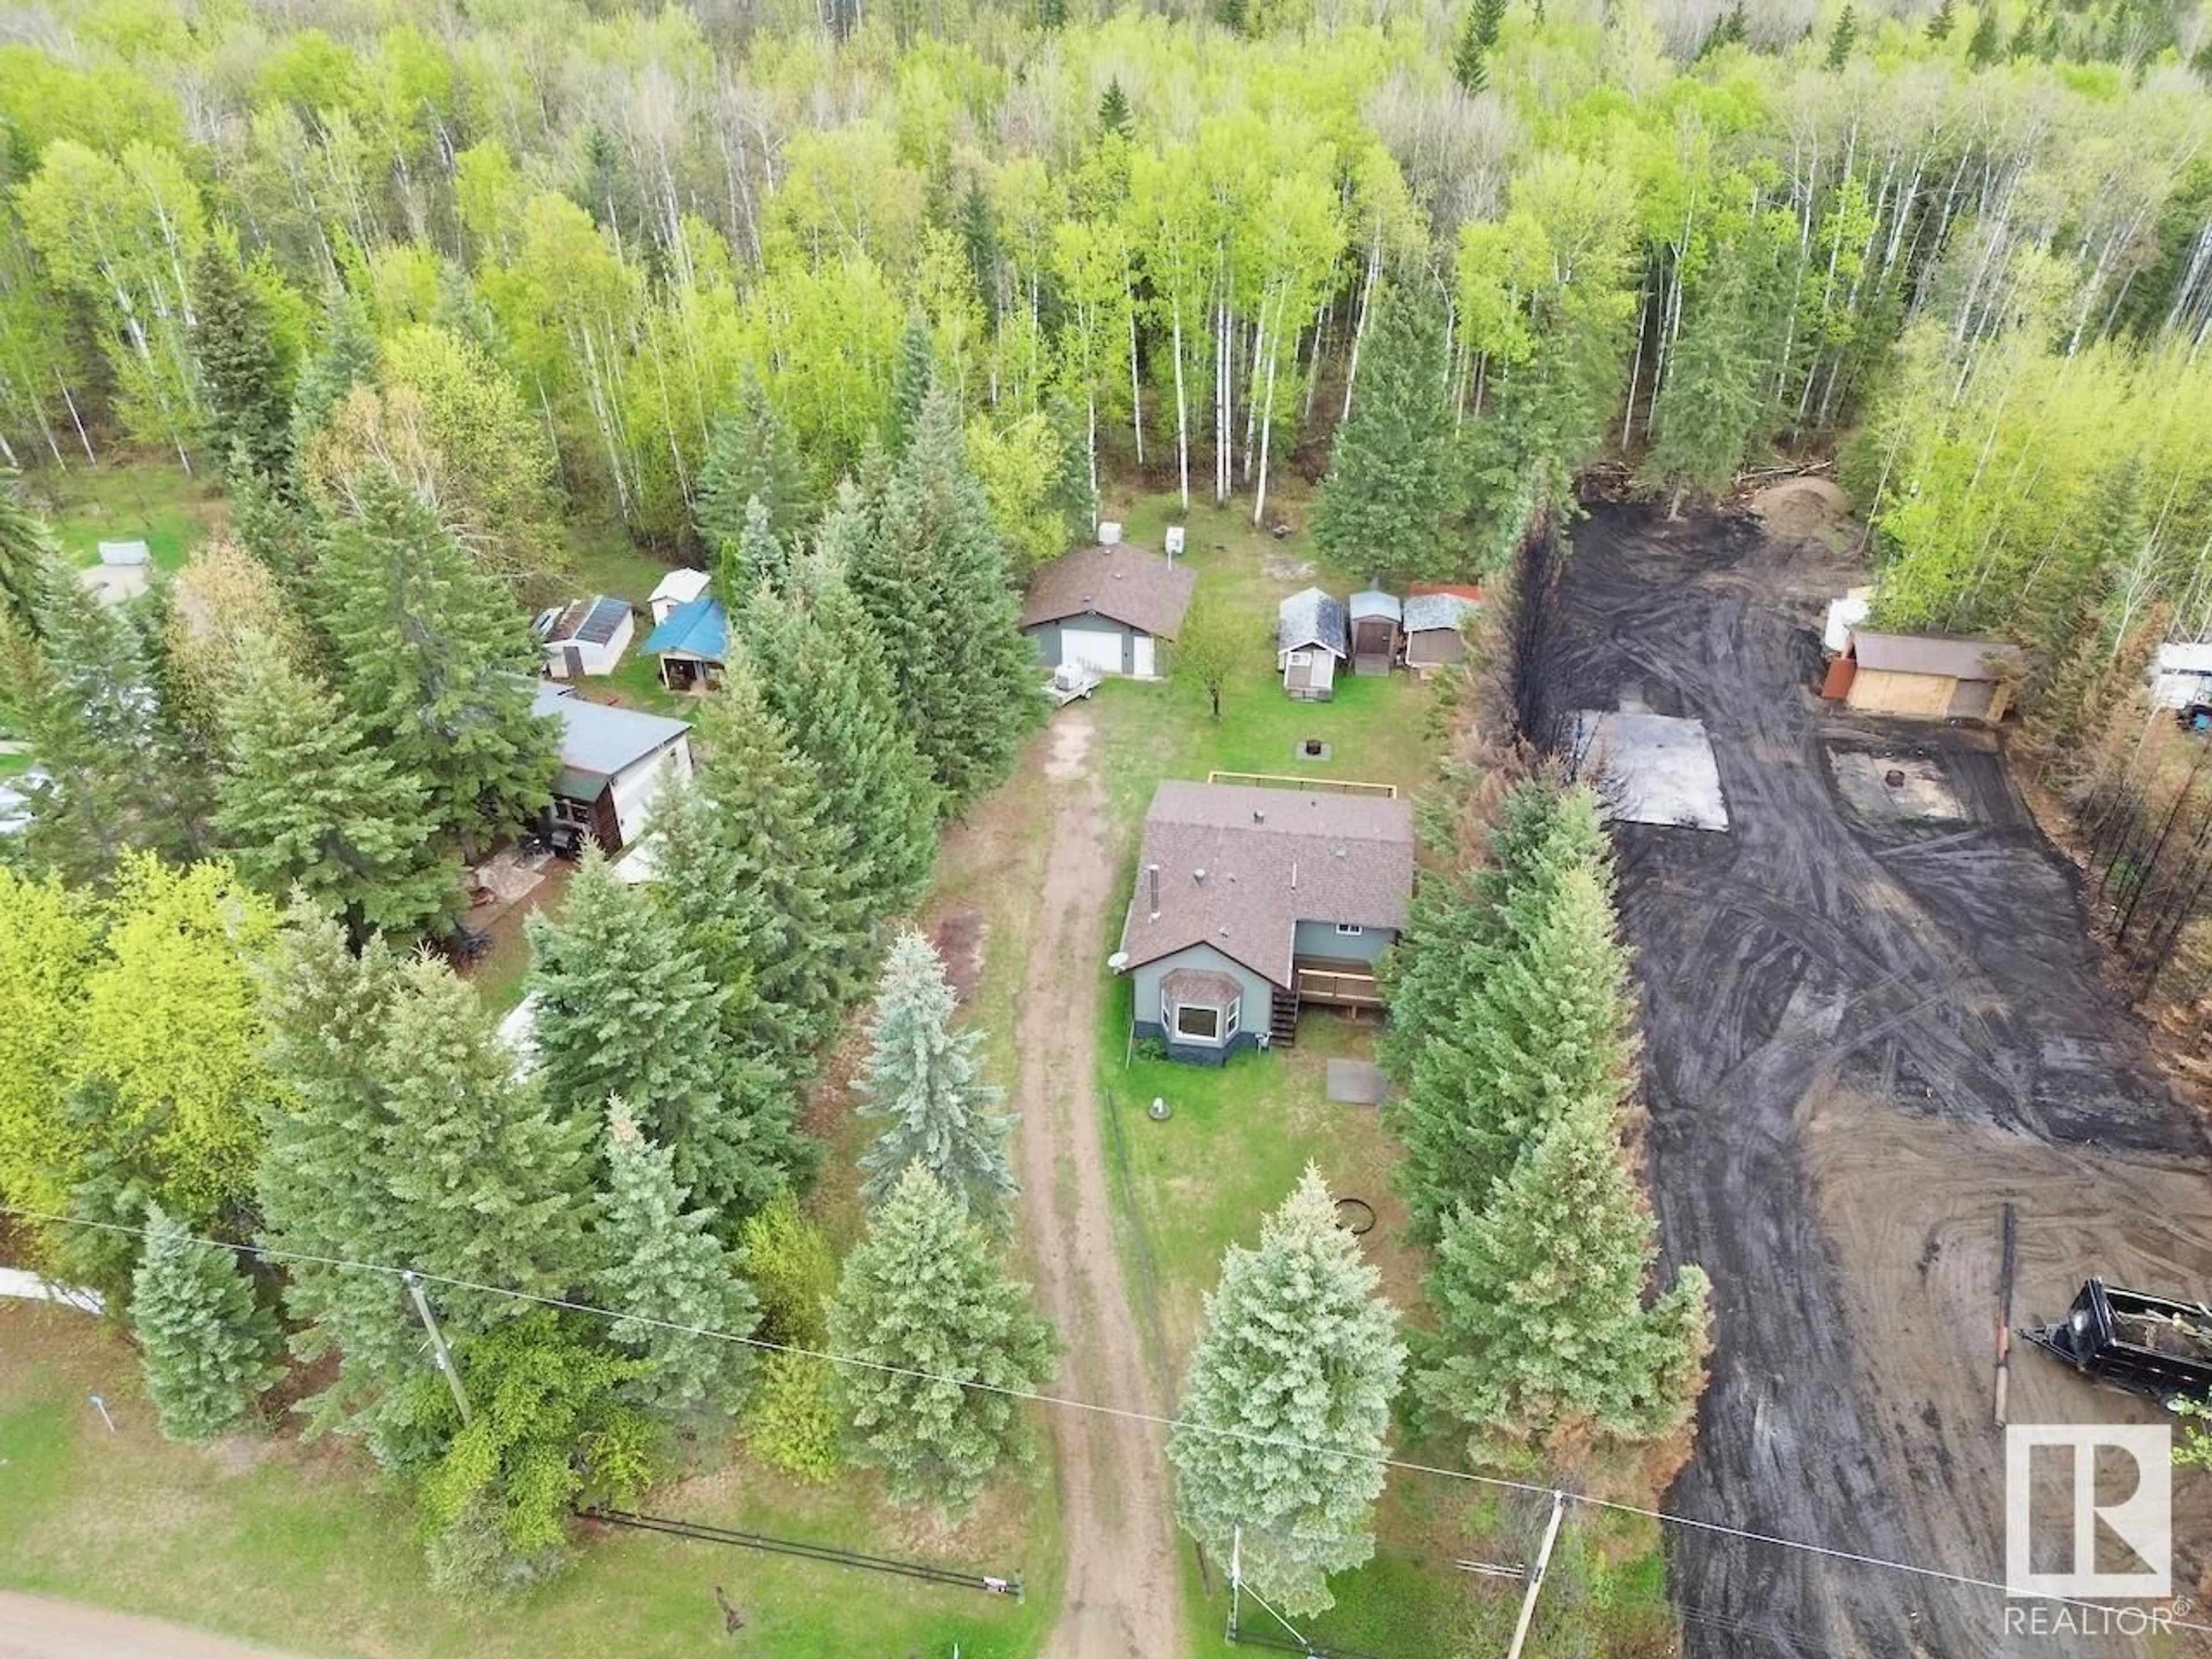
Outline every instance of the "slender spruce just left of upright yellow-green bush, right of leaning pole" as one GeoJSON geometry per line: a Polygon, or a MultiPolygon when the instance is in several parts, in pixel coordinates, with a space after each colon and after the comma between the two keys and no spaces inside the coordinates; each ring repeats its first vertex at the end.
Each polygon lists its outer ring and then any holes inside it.
{"type": "Polygon", "coordinates": [[[730,1416],[752,1371],[752,1349],[734,1338],[752,1332],[761,1307],[739,1276],[741,1256],[714,1237],[714,1217],[684,1203],[670,1150],[611,1102],[597,1290],[622,1318],[608,1338],[653,1367],[633,1385],[639,1405],[730,1416]]]}

